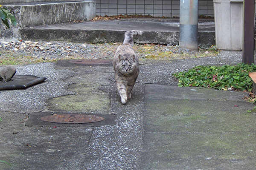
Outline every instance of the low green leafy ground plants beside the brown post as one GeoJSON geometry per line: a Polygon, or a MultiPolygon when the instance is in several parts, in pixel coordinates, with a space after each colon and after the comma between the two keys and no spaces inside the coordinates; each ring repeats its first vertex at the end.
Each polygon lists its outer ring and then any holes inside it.
{"type": "Polygon", "coordinates": [[[179,79],[178,86],[209,87],[227,90],[251,91],[249,72],[256,71],[256,65],[197,66],[188,71],[173,74],[179,79]]]}

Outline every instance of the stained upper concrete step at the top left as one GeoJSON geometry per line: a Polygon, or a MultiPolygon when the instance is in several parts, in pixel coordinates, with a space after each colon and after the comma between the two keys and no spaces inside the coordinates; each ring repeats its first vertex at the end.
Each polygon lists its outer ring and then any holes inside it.
{"type": "Polygon", "coordinates": [[[96,14],[96,2],[93,0],[8,3],[3,6],[15,15],[17,26],[7,31],[3,30],[5,27],[1,26],[1,38],[18,38],[20,37],[19,29],[23,27],[67,23],[75,20],[86,21],[95,17],[96,14]]]}

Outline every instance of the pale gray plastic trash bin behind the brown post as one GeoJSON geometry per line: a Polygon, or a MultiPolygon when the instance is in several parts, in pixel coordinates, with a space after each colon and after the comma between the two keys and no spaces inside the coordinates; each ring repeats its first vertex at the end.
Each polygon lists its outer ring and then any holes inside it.
{"type": "Polygon", "coordinates": [[[213,0],[215,41],[218,49],[243,49],[243,2],[243,0],[213,0]]]}

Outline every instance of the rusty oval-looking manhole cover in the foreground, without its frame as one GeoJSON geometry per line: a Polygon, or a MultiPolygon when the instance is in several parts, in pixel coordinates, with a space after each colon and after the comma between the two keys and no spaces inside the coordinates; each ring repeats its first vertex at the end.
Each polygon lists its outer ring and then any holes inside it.
{"type": "Polygon", "coordinates": [[[53,123],[93,123],[104,120],[103,117],[86,114],[54,114],[40,118],[45,122],[53,123]]]}

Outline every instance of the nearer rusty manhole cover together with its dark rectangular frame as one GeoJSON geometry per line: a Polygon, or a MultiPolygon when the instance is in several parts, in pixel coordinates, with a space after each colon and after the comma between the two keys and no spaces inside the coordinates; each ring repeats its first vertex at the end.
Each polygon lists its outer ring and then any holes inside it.
{"type": "Polygon", "coordinates": [[[26,126],[106,126],[115,125],[115,115],[79,114],[63,112],[34,112],[29,114],[26,126]]]}

